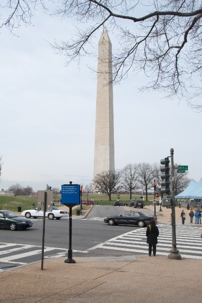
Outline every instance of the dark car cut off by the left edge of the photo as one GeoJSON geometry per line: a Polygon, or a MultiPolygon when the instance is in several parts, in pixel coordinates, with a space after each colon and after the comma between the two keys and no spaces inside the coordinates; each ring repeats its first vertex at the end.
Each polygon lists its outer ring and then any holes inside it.
{"type": "Polygon", "coordinates": [[[10,211],[0,211],[0,228],[26,229],[31,227],[32,224],[33,222],[30,219],[20,217],[10,211]]]}

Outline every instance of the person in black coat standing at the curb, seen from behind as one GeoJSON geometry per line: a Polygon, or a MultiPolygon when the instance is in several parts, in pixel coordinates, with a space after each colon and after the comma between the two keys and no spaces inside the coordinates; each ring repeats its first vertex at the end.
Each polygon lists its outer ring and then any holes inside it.
{"type": "Polygon", "coordinates": [[[152,255],[152,248],[153,248],[153,255],[156,256],[156,244],[158,243],[157,237],[159,236],[159,229],[156,226],[155,220],[150,221],[150,225],[147,227],[146,231],[147,236],[147,243],[149,244],[149,256],[152,255]]]}

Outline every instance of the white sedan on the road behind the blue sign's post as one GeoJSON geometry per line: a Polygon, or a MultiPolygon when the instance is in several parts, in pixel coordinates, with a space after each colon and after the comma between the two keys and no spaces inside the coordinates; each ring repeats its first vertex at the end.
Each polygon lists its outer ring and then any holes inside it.
{"type": "MultiPolygon", "coordinates": [[[[43,217],[43,211],[42,210],[27,210],[23,211],[21,213],[22,216],[26,218],[37,218],[37,217],[43,217]]],[[[48,217],[49,220],[53,220],[54,218],[59,220],[60,218],[66,218],[68,217],[68,213],[64,210],[59,210],[56,207],[53,206],[52,211],[46,211],[45,216],[48,217]]]]}

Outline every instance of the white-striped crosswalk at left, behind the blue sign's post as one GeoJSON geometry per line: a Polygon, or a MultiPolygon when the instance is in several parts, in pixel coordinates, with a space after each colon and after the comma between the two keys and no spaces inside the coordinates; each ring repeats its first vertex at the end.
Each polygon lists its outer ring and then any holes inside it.
{"type": "MultiPolygon", "coordinates": [[[[74,252],[88,253],[88,251],[74,250],[74,252]]],[[[44,260],[68,256],[68,249],[44,247],[44,260]]],[[[41,246],[0,242],[0,273],[12,267],[19,267],[39,262],[41,260],[41,246]]]]}

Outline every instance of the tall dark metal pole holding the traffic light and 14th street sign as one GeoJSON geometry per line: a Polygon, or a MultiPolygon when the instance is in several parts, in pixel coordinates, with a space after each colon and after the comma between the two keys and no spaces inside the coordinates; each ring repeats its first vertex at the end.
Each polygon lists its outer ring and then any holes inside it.
{"type": "Polygon", "coordinates": [[[174,149],[170,148],[170,158],[171,158],[171,195],[172,195],[172,248],[168,259],[181,260],[179,250],[177,249],[176,243],[176,225],[175,225],[175,195],[174,195],[174,160],[173,160],[174,149]]]}

